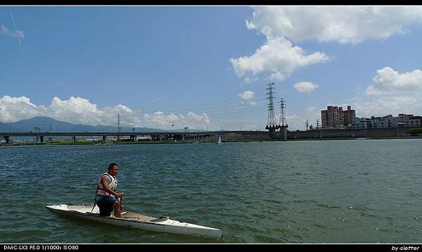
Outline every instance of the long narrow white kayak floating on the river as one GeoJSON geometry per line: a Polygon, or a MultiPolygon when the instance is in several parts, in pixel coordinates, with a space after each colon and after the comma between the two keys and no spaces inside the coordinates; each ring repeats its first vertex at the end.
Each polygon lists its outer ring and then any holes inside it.
{"type": "Polygon", "coordinates": [[[94,220],[122,227],[133,227],[152,232],[193,234],[211,238],[221,238],[223,235],[223,232],[220,229],[179,222],[178,220],[171,220],[167,216],[153,218],[140,213],[122,212],[122,218],[115,218],[113,213],[110,217],[104,217],[100,216],[98,206],[95,206],[94,210],[92,210],[93,206],[94,205],[68,206],[62,204],[56,206],[46,206],[46,208],[49,208],[56,213],[63,213],[65,215],[75,216],[86,220],[94,220]]]}

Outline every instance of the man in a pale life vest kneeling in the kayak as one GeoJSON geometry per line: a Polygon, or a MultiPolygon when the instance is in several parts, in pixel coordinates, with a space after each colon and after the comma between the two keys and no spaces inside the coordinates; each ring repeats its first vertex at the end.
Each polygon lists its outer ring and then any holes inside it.
{"type": "Polygon", "coordinates": [[[116,163],[108,165],[108,172],[101,175],[96,189],[96,205],[100,208],[101,216],[110,217],[114,210],[116,218],[121,217],[120,202],[123,196],[122,192],[117,192],[117,172],[119,166],[116,163]]]}

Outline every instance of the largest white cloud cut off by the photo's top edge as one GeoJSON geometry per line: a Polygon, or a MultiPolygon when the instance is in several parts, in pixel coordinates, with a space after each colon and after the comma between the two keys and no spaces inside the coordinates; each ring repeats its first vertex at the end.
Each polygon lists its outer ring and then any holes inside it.
{"type": "Polygon", "coordinates": [[[403,34],[421,21],[421,6],[257,6],[246,23],[268,39],[355,44],[403,34]]]}

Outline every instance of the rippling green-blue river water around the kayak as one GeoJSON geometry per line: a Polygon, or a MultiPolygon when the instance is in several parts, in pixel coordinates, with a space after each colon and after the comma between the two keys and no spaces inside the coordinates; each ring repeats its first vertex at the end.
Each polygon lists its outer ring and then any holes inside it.
{"type": "Polygon", "coordinates": [[[3,243],[418,243],[422,139],[0,148],[3,243]],[[108,163],[124,208],[222,239],[64,218],[108,163]]]}

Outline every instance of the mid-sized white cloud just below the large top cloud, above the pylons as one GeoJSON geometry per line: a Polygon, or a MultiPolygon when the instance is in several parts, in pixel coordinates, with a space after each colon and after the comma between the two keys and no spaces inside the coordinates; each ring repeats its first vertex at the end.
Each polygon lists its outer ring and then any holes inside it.
{"type": "Polygon", "coordinates": [[[251,56],[230,58],[229,61],[238,77],[268,72],[271,73],[269,79],[284,80],[297,68],[328,61],[328,56],[320,52],[307,54],[299,46],[277,37],[269,39],[251,56]]]}

